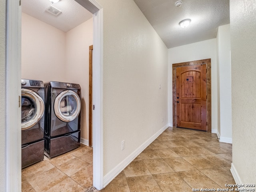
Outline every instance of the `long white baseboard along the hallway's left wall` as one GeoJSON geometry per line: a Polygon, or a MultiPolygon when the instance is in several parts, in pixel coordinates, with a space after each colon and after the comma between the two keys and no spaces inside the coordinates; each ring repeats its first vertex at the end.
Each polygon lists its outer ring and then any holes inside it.
{"type": "Polygon", "coordinates": [[[140,147],[138,147],[132,154],[120,162],[114,169],[103,177],[103,187],[106,187],[118,174],[126,168],[145,148],[147,148],[164,130],[168,128],[168,124],[161,128],[156,134],[146,140],[140,147]]]}

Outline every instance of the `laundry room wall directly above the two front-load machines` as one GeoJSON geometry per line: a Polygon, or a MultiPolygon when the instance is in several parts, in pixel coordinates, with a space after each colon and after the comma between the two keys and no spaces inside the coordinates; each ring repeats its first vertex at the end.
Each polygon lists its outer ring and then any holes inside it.
{"type": "Polygon", "coordinates": [[[21,77],[65,82],[66,33],[22,13],[21,77]]]}

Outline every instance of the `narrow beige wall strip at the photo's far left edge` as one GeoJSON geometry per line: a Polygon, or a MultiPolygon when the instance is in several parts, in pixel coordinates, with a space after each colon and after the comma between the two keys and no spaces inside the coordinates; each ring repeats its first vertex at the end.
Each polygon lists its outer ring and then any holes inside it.
{"type": "Polygon", "coordinates": [[[6,190],[6,58],[5,58],[5,46],[6,46],[6,33],[5,33],[5,0],[0,0],[0,189],[6,190]]]}

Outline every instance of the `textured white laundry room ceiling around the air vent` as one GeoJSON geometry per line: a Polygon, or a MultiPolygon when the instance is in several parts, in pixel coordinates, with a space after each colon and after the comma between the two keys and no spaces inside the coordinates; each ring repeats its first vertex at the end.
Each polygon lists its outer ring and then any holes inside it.
{"type": "Polygon", "coordinates": [[[92,18],[92,14],[74,0],[60,0],[54,4],[49,0],[22,0],[22,12],[64,32],[92,18]],[[62,13],[55,16],[46,12],[50,5],[62,13]]]}

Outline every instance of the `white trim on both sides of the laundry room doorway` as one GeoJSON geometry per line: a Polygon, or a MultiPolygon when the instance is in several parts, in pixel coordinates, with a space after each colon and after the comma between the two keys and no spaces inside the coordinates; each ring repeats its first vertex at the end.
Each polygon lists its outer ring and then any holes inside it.
{"type": "MultiPolygon", "coordinates": [[[[93,185],[103,188],[103,8],[95,0],[75,0],[93,14],[93,185]]],[[[6,191],[21,192],[21,6],[6,0],[6,191]],[[17,102],[13,102],[17,101],[17,102]]]]}

